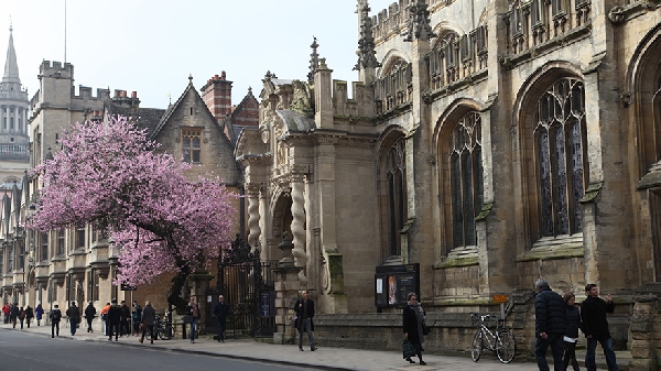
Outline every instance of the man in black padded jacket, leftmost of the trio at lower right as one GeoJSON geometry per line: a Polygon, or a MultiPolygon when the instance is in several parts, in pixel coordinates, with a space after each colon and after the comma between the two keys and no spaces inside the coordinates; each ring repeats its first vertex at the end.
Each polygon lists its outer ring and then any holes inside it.
{"type": "Polygon", "coordinates": [[[551,346],[553,354],[553,370],[564,371],[562,356],[564,353],[564,331],[566,328],[565,303],[560,294],[551,291],[549,282],[539,279],[535,284],[534,297],[534,334],[537,343],[534,357],[540,371],[549,371],[546,350],[551,346]]]}

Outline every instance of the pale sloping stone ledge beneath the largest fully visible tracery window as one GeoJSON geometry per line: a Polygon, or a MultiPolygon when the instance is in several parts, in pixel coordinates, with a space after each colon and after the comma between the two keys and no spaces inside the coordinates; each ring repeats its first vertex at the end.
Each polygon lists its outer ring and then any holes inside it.
{"type": "Polygon", "coordinates": [[[583,258],[583,233],[545,237],[537,241],[530,251],[517,258],[518,262],[583,258]]]}

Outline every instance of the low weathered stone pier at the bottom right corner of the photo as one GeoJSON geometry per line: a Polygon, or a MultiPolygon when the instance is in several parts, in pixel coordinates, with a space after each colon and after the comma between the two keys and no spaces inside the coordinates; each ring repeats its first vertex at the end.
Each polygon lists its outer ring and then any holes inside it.
{"type": "Polygon", "coordinates": [[[633,315],[629,327],[631,339],[631,360],[629,370],[658,370],[658,336],[661,334],[661,283],[648,283],[633,291],[633,315]]]}

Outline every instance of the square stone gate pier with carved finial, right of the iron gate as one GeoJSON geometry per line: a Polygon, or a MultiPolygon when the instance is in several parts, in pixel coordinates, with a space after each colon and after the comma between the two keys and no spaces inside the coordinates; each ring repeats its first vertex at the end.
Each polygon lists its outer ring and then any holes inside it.
{"type": "Polygon", "coordinates": [[[279,245],[283,257],[278,262],[278,268],[273,270],[275,274],[275,325],[278,326],[275,334],[273,334],[273,342],[275,343],[294,343],[296,336],[296,329],[291,319],[301,290],[301,282],[299,281],[301,268],[294,264],[293,248],[294,245],[285,232],[282,243],[279,245]]]}

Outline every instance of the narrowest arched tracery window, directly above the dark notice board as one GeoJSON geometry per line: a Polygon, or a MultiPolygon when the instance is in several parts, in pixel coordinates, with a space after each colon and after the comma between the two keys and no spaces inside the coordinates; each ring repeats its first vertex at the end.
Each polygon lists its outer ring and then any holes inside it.
{"type": "Polygon", "coordinates": [[[386,159],[388,182],[388,229],[390,255],[401,255],[400,231],[407,222],[405,139],[398,139],[386,159]]]}

